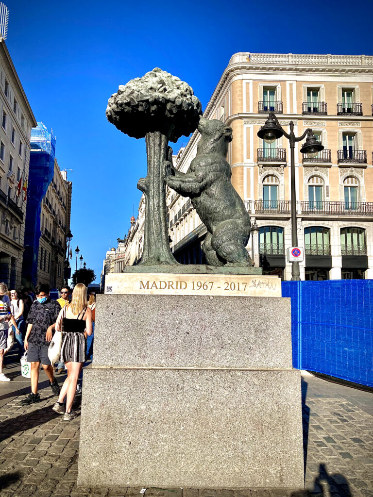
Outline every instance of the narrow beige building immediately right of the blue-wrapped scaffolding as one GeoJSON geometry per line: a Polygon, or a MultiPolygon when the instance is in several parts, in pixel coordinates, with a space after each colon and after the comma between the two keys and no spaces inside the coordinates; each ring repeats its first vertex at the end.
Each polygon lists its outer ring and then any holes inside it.
{"type": "Polygon", "coordinates": [[[70,231],[71,182],[54,161],[54,174],[41,204],[38,283],[58,288],[64,283],[66,235],[70,231]]]}

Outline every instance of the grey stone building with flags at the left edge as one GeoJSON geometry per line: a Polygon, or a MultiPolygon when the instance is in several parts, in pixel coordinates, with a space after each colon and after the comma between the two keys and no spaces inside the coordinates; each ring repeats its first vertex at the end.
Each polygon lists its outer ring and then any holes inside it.
{"type": "Polygon", "coordinates": [[[30,131],[35,117],[0,38],[0,281],[21,285],[30,131]]]}

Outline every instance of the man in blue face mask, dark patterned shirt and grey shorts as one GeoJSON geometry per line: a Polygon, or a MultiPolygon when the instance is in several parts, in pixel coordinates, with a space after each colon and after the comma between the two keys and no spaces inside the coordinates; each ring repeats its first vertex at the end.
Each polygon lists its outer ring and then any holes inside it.
{"type": "Polygon", "coordinates": [[[56,324],[60,304],[49,299],[49,286],[39,284],[35,286],[36,300],[33,302],[27,319],[27,331],[24,339],[24,348],[27,350],[27,360],[31,362],[31,393],[21,401],[22,405],[41,402],[38,394],[39,366],[40,363],[46,372],[49,385],[54,395],[60,394],[60,386],[53,376],[53,366],[48,358],[48,347],[51,336],[46,339],[48,328],[56,324]]]}

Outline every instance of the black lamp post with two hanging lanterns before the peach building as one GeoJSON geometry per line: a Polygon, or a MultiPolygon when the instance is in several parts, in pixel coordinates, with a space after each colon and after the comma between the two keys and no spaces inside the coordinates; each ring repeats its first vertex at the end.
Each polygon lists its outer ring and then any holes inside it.
{"type": "MultiPolygon", "coordinates": [[[[302,136],[296,137],[294,135],[294,123],[290,121],[290,133],[281,127],[279,120],[273,112],[270,112],[264,126],[258,131],[259,138],[262,138],[266,143],[273,143],[282,135],[285,136],[290,142],[290,183],[291,183],[291,245],[296,247],[298,245],[298,234],[296,227],[296,191],[295,191],[295,162],[294,162],[294,148],[295,142],[300,142],[307,135],[305,143],[303,143],[300,152],[307,154],[308,157],[314,158],[317,154],[324,149],[324,146],[316,140],[311,128],[307,128],[302,136]]],[[[299,262],[291,263],[291,281],[300,281],[299,277],[299,262]]]]}

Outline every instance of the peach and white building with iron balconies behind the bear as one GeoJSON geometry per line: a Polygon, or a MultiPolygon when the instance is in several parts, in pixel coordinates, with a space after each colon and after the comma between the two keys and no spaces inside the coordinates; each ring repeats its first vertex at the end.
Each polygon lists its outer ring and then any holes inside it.
{"type": "MultiPolygon", "coordinates": [[[[301,279],[373,278],[373,57],[237,53],[204,111],[233,129],[232,183],[255,223],[247,249],[265,274],[288,280],[290,151],[284,137],[258,138],[270,111],[286,131],[292,120],[296,136],[312,128],[324,145],[314,159],[295,149],[301,279]]],[[[179,170],[197,142],[195,132],[174,157],[179,170]]],[[[206,230],[190,200],[168,190],[167,204],[176,258],[202,262],[206,230]]]]}

